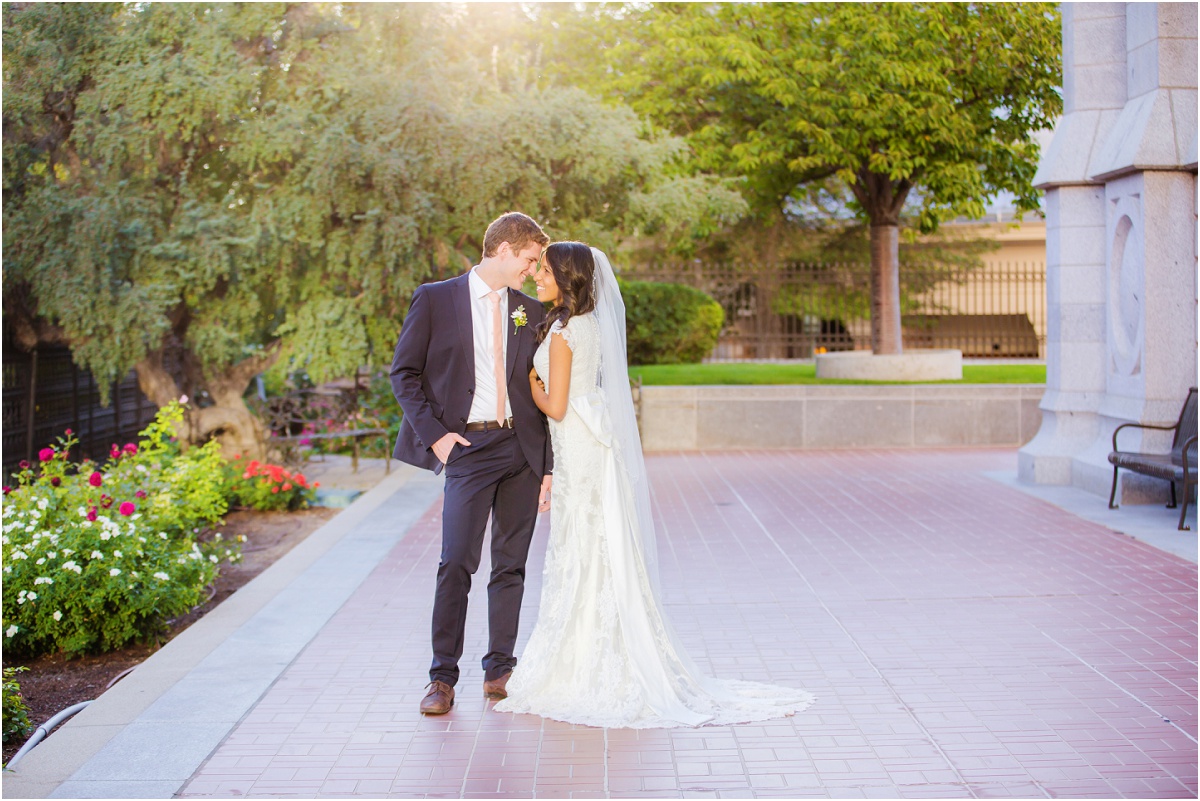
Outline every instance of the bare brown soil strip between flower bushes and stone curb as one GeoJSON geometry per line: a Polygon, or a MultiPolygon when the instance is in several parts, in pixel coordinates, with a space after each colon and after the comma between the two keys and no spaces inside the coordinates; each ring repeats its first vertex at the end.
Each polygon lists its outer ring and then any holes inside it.
{"type": "MultiPolygon", "coordinates": [[[[222,564],[221,573],[211,588],[211,600],[202,607],[175,620],[170,628],[154,643],[143,643],[118,651],[72,660],[61,655],[49,655],[5,667],[29,668],[17,675],[20,694],[29,706],[29,722],[37,727],[61,710],[80,701],[97,698],[113,686],[124,674],[136,668],[173,637],[212,612],[222,601],[242,585],[271,566],[337,514],[336,508],[308,508],[299,512],[234,511],[226,514],[224,525],[218,529],[226,541],[238,535],[246,537],[242,543],[242,560],[235,565],[222,564]]],[[[24,740],[4,743],[4,763],[24,745],[24,740]]]]}

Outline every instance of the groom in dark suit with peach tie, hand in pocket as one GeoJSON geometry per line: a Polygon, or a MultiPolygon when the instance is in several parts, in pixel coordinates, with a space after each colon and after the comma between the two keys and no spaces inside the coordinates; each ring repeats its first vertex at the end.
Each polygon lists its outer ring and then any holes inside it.
{"type": "Polygon", "coordinates": [[[546,313],[521,285],[547,242],[530,217],[502,215],[487,227],[484,258],[468,273],[416,288],[396,343],[391,389],[404,418],[392,456],[446,474],[425,715],[454,706],[467,594],[488,516],[484,694],[505,698],[517,662],[526,556],[553,462],[546,417],[529,391],[534,329],[546,313]]]}

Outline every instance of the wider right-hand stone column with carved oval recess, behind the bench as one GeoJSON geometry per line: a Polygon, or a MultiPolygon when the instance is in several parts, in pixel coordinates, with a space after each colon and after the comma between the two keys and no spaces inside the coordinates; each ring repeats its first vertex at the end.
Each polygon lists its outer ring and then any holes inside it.
{"type": "MultiPolygon", "coordinates": [[[[1073,483],[1111,487],[1124,422],[1174,423],[1196,383],[1196,6],[1126,5],[1128,100],[1092,177],[1105,182],[1105,393],[1073,483]]],[[[1122,432],[1121,447],[1165,452],[1170,435],[1122,432]],[[1128,436],[1127,436],[1128,434],[1128,436]]],[[[1118,500],[1165,501],[1168,484],[1123,475],[1118,500]]]]}

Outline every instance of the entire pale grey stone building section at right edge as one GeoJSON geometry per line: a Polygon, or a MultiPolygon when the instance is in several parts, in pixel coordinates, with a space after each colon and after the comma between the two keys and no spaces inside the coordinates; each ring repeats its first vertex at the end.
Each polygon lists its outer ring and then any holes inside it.
{"type": "MultiPolygon", "coordinates": [[[[1062,18],[1063,118],[1034,179],[1046,392],[1019,475],[1106,496],[1112,430],[1174,423],[1196,385],[1196,5],[1064,4],[1062,18]]],[[[1122,474],[1121,501],[1165,496],[1165,482],[1122,474]]]]}

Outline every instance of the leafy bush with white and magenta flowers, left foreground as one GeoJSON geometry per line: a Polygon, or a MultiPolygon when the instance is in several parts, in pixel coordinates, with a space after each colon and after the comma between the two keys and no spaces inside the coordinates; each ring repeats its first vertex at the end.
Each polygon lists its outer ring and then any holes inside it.
{"type": "Polygon", "coordinates": [[[148,639],[204,601],[222,556],[239,558],[197,541],[226,512],[226,466],[216,441],[180,451],[182,416],[164,406],[103,465],[72,465],[70,432],[36,468],[22,463],[2,512],[7,651],[74,656],[148,639]]]}

